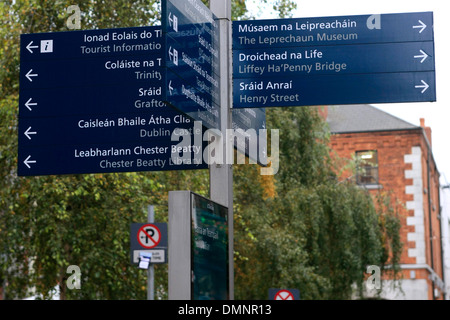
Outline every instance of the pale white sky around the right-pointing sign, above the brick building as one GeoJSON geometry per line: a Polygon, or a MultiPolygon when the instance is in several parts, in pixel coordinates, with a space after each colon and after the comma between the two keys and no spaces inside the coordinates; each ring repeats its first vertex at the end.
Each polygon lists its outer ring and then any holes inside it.
{"type": "MultiPolygon", "coordinates": [[[[250,0],[248,3],[250,4],[250,0]]],[[[260,2],[254,0],[253,2],[260,2]]],[[[247,3],[247,1],[246,1],[247,3]]],[[[310,18],[326,16],[349,16],[384,13],[426,12],[434,13],[434,40],[436,64],[436,96],[434,103],[398,103],[377,104],[375,107],[386,111],[414,125],[420,125],[420,118],[432,129],[433,154],[442,178],[450,182],[450,63],[447,60],[450,41],[450,24],[448,23],[448,3],[442,0],[297,0],[297,10],[293,18],[310,18]]],[[[255,12],[256,13],[256,12],[255,12]]],[[[258,19],[271,19],[273,10],[259,13],[258,19]]],[[[441,179],[441,183],[444,180],[441,179]]]]}

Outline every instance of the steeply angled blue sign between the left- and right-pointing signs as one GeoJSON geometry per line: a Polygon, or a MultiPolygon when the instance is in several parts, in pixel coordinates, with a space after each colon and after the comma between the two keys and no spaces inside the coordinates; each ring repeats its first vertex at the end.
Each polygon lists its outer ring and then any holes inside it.
{"type": "Polygon", "coordinates": [[[165,0],[162,8],[163,100],[205,127],[220,129],[217,18],[200,0],[165,0]]]}

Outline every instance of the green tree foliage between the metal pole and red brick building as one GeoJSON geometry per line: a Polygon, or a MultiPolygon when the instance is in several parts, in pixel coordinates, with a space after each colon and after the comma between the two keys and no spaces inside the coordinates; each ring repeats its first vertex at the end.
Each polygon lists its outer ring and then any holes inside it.
{"type": "Polygon", "coordinates": [[[337,182],[315,109],[268,110],[268,125],[280,128],[277,196],[262,201],[261,188],[247,188],[256,170],[235,173],[235,185],[244,183],[235,195],[236,297],[265,299],[271,287],[299,288],[302,299],[363,296],[367,265],[383,270],[400,257],[389,200],[379,195],[375,206],[366,191],[337,182]]]}

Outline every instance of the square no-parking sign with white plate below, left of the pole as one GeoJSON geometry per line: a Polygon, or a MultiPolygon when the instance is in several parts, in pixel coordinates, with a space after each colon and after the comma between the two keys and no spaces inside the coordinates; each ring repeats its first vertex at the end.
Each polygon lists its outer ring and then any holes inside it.
{"type": "Polygon", "coordinates": [[[151,253],[150,263],[167,263],[167,223],[132,223],[131,263],[139,263],[141,252],[151,253]]]}

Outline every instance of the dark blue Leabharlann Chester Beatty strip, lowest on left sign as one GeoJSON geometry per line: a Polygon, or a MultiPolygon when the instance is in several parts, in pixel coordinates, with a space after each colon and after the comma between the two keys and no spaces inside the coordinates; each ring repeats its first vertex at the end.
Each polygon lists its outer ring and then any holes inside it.
{"type": "MultiPolygon", "coordinates": [[[[200,134],[201,136],[201,134],[200,134]]],[[[19,148],[19,176],[206,169],[198,157],[205,145],[181,149],[178,142],[43,145],[19,148]],[[172,154],[175,156],[172,156],[172,154]],[[184,154],[190,153],[189,159],[184,154]],[[199,159],[199,160],[197,160],[199,159]]]]}

